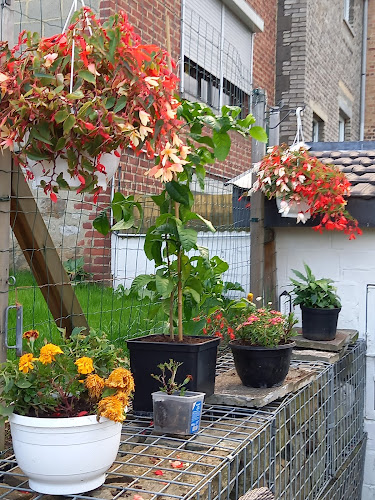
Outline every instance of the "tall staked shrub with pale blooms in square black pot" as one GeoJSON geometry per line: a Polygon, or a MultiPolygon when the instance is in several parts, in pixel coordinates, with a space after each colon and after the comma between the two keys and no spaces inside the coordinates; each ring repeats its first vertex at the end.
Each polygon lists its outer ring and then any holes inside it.
{"type": "MultiPolygon", "coordinates": [[[[213,393],[219,339],[184,335],[184,320],[186,326],[194,309],[200,310],[204,296],[205,277],[199,267],[212,266],[205,250],[201,249],[199,256],[189,253],[198,249],[197,229],[192,223],[199,221],[215,231],[210,221],[193,211],[191,183],[195,175],[203,189],[204,165],[225,160],[231,144],[229,130],[266,139],[263,129],[253,126],[251,115],[239,118],[238,107],[225,106],[222,114],[216,116],[205,105],[183,101],[177,113],[180,126],[172,139],[175,146],[168,142],[158,163],[148,172],[164,181],[161,194],[152,196],[160,215],[147,230],[144,245],[156,272],[137,276],[132,284],[133,291],[146,287],[157,292],[169,324],[168,335],[148,335],[127,342],[137,386],[133,409],[140,413],[152,411],[151,394],[158,389],[156,381],[150,378],[152,366],[169,359],[183,362],[192,375],[189,390],[213,393]],[[179,138],[182,133],[186,145],[179,138]]],[[[196,327],[201,330],[202,325],[196,327]]]]}

